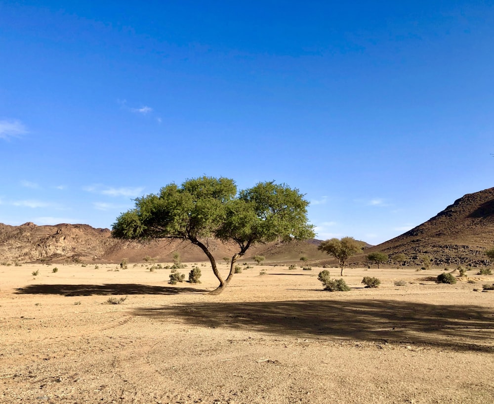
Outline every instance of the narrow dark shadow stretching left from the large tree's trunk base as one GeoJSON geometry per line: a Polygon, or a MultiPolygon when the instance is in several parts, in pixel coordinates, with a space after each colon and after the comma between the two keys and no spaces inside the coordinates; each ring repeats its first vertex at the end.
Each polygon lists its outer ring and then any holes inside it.
{"type": "Polygon", "coordinates": [[[178,293],[205,293],[206,289],[173,286],[151,286],[136,283],[106,283],[103,285],[28,285],[18,288],[16,294],[30,295],[175,295],[178,293]]]}

